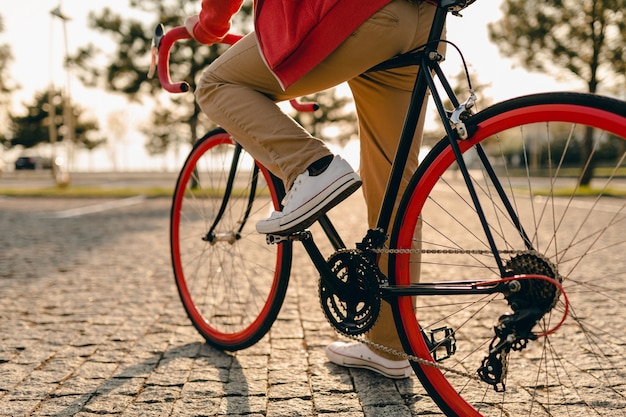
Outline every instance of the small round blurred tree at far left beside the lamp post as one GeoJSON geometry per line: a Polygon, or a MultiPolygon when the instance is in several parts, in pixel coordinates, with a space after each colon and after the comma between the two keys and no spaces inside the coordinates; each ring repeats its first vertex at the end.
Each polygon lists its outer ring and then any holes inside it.
{"type": "MultiPolygon", "coordinates": [[[[52,94],[52,101],[55,104],[53,117],[50,117],[49,92],[43,91],[35,94],[32,104],[25,104],[25,116],[10,115],[10,139],[9,146],[23,146],[32,148],[40,143],[49,143],[50,135],[48,127],[50,120],[55,124],[58,136],[57,141],[63,141],[68,135],[63,126],[63,96],[61,92],[55,91],[52,94]]],[[[75,144],[86,149],[93,149],[105,142],[105,139],[97,137],[98,124],[94,120],[82,117],[83,110],[77,106],[72,106],[71,115],[74,118],[74,140],[75,144]]]]}

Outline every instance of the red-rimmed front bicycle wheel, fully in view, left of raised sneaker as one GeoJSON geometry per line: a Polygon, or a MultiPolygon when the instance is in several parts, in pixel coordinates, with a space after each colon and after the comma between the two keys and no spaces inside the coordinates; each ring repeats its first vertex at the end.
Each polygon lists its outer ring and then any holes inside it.
{"type": "Polygon", "coordinates": [[[200,139],[180,172],[170,215],[176,286],[193,325],[219,349],[253,345],[278,315],[291,243],[266,244],[255,223],[283,195],[223,130],[200,139]]]}

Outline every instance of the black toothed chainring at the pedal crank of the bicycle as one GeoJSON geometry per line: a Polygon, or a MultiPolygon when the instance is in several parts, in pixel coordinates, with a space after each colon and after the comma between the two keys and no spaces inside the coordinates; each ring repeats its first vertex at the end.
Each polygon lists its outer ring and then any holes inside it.
{"type": "Polygon", "coordinates": [[[319,282],[326,318],[347,336],[367,332],[380,313],[377,266],[358,249],[341,249],[330,256],[327,264],[332,276],[322,276],[319,282]]]}

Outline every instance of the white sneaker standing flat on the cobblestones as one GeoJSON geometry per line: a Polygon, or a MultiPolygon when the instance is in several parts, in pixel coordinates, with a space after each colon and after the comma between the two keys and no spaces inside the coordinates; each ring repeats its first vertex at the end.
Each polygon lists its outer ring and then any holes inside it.
{"type": "Polygon", "coordinates": [[[412,372],[408,360],[385,359],[372,352],[363,343],[333,342],[326,347],[326,357],[334,364],[348,368],[369,369],[387,378],[408,378],[412,372]]]}

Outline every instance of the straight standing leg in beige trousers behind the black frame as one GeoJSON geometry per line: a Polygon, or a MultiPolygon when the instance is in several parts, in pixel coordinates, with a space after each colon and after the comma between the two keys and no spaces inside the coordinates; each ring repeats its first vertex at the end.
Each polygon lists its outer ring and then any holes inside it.
{"type": "MultiPolygon", "coordinates": [[[[415,46],[427,40],[434,8],[425,3],[415,4],[419,11],[418,26],[415,31],[415,46]]],[[[391,71],[368,73],[349,81],[355,98],[359,118],[359,137],[361,140],[361,168],[363,193],[365,196],[369,227],[376,226],[378,213],[384,198],[391,164],[395,158],[398,139],[400,138],[404,118],[413,90],[416,67],[399,68],[391,71]]],[[[415,133],[413,148],[408,156],[399,196],[402,196],[411,175],[417,169],[418,153],[424,127],[424,104],[420,122],[415,133]]],[[[395,213],[394,213],[395,217],[395,213]]],[[[419,229],[416,242],[420,241],[419,229]]],[[[416,243],[416,247],[419,243],[416,243]]],[[[411,275],[414,282],[419,280],[419,254],[412,261],[415,268],[411,275]]],[[[379,259],[381,271],[387,273],[387,256],[379,259]]],[[[391,307],[383,302],[380,317],[369,331],[367,338],[377,344],[402,351],[396,332],[391,307]]],[[[398,360],[390,353],[372,348],[385,359],[398,360]]]]}

